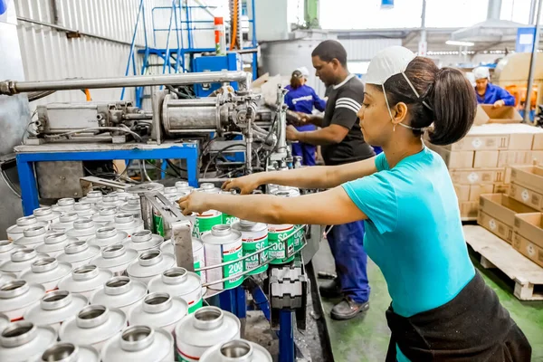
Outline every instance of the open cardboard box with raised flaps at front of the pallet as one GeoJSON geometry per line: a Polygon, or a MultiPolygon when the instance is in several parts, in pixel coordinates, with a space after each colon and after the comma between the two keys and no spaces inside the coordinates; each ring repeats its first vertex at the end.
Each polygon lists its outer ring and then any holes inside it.
{"type": "Polygon", "coordinates": [[[512,242],[515,215],[537,210],[503,194],[481,195],[478,223],[508,243],[512,242]]]}

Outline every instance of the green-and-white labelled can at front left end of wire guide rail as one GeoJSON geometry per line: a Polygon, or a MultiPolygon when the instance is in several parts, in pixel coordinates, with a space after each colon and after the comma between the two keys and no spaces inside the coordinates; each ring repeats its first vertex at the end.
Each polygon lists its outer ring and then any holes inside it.
{"type": "MultiPolygon", "coordinates": [[[[212,266],[223,262],[232,262],[242,258],[242,233],[232,230],[230,225],[216,225],[211,232],[202,235],[205,248],[205,265],[212,266]]],[[[233,289],[243,282],[243,261],[233,262],[224,267],[208,269],[205,271],[207,282],[226,281],[214,283],[210,289],[223,291],[233,289]]]]}

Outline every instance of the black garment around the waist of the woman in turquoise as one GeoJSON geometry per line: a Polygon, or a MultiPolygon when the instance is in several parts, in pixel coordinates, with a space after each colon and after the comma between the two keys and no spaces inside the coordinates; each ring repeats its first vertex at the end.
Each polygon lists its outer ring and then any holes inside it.
{"type": "Polygon", "coordinates": [[[396,344],[413,362],[530,361],[528,339],[479,272],[443,306],[405,318],[391,305],[386,320],[392,331],[386,362],[395,362],[396,344]]]}

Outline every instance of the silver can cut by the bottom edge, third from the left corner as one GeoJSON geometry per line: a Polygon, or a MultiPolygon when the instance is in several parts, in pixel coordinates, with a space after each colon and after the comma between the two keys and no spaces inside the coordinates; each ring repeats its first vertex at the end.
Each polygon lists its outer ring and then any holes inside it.
{"type": "Polygon", "coordinates": [[[171,362],[174,338],[164,329],[130,326],[102,349],[102,362],[171,362]]]}

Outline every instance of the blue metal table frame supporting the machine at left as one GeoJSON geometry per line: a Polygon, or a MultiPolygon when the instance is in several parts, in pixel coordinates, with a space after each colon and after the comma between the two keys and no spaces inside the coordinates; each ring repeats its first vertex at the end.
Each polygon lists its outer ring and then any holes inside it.
{"type": "MultiPolygon", "coordinates": [[[[152,148],[149,145],[110,145],[110,150],[51,150],[38,152],[17,151],[17,171],[21,183],[21,198],[23,200],[23,212],[25,215],[33,213],[33,210],[40,207],[38,201],[38,190],[33,171],[34,162],[41,161],[92,161],[92,160],[113,160],[113,159],[176,159],[185,158],[188,170],[188,183],[197,186],[197,143],[179,143],[164,148],[152,148]]],[[[20,147],[19,147],[20,148],[20,147]]],[[[39,150],[40,147],[35,147],[39,150]]]]}

